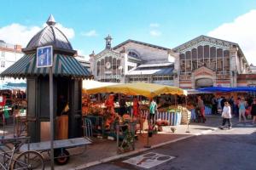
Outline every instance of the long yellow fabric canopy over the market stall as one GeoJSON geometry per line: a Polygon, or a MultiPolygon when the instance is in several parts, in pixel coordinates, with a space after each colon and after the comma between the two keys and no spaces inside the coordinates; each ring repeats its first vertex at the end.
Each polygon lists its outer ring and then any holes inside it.
{"type": "Polygon", "coordinates": [[[90,88],[87,90],[88,94],[98,93],[115,93],[115,94],[127,94],[127,95],[143,95],[148,98],[160,94],[177,94],[186,95],[186,91],[172,86],[146,83],[146,82],[133,82],[125,84],[116,84],[111,86],[105,86],[101,88],[90,88]]]}

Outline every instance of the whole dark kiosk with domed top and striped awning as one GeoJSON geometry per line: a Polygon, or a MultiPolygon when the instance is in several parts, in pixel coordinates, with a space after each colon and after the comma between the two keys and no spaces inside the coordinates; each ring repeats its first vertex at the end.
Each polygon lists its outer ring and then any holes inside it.
{"type": "Polygon", "coordinates": [[[61,138],[67,136],[71,139],[82,135],[82,79],[90,77],[90,72],[74,58],[77,51],[73,50],[67,37],[55,26],[52,15],[46,24],[22,49],[25,55],[0,75],[26,78],[27,119],[30,120],[27,133],[32,142],[49,140],[49,68],[37,67],[37,49],[44,46],[53,48],[54,119],[56,124],[56,119],[65,115],[66,118],[62,120],[68,124],[68,127],[55,126],[55,134],[68,133],[61,135],[61,138]]]}

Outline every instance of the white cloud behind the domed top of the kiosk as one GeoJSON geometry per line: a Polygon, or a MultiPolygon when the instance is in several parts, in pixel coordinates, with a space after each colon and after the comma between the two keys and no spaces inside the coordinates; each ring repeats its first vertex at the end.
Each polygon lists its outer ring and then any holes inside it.
{"type": "MultiPolygon", "coordinates": [[[[10,24],[8,26],[0,27],[0,39],[13,43],[20,44],[22,47],[26,47],[26,44],[31,40],[31,38],[38,33],[38,31],[42,30],[46,26],[23,26],[17,23],[10,24]]],[[[72,28],[67,28],[61,26],[61,24],[56,24],[68,39],[74,37],[75,33],[72,28]]]]}

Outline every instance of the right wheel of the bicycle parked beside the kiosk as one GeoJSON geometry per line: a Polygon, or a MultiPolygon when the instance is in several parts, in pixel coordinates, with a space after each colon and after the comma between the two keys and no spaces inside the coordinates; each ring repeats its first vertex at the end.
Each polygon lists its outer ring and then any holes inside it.
{"type": "Polygon", "coordinates": [[[13,161],[11,169],[44,169],[44,156],[37,151],[22,152],[13,161]]]}

